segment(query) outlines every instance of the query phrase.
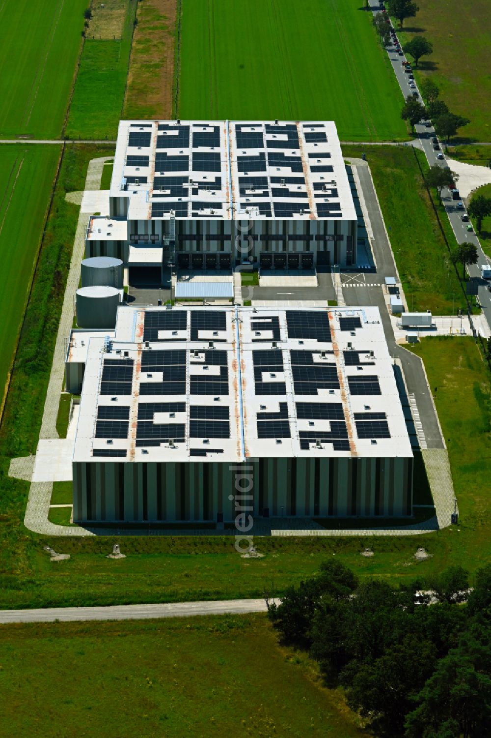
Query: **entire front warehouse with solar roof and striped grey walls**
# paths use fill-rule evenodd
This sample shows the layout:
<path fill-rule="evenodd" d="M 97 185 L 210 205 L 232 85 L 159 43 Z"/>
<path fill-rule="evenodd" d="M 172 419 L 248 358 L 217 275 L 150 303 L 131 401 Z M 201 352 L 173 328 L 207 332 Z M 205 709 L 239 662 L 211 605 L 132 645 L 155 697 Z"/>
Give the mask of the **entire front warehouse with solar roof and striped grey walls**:
<path fill-rule="evenodd" d="M 78 345 L 74 520 L 231 521 L 240 469 L 255 517 L 411 514 L 377 308 L 120 306 Z"/>

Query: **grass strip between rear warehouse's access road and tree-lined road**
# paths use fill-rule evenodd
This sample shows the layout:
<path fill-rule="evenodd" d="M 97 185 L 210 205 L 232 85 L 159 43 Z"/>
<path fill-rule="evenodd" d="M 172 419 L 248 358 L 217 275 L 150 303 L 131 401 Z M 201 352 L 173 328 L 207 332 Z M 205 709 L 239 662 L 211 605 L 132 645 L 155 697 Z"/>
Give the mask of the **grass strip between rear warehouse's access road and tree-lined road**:
<path fill-rule="evenodd" d="M 361 152 L 361 148 L 343 146 L 348 159 L 360 157 Z M 417 155 L 424 169 L 428 166 L 425 156 L 422 152 Z M 453 266 L 448 263 L 448 250 L 413 149 L 374 146 L 367 158 L 409 310 L 447 315 L 464 307 L 462 289 Z M 455 237 L 450 225 L 448 229 L 445 227 L 448 218 L 443 212 L 441 219 L 453 246 Z"/>

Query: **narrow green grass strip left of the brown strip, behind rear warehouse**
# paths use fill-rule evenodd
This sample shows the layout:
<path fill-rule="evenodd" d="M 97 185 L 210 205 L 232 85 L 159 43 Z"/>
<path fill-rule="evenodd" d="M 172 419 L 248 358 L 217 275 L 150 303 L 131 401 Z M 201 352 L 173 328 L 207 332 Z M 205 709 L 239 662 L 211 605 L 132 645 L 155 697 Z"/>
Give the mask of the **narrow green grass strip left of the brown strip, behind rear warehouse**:
<path fill-rule="evenodd" d="M 120 41 L 87 38 L 80 58 L 66 136 L 115 139 L 125 97 L 136 2 L 128 2 Z"/>

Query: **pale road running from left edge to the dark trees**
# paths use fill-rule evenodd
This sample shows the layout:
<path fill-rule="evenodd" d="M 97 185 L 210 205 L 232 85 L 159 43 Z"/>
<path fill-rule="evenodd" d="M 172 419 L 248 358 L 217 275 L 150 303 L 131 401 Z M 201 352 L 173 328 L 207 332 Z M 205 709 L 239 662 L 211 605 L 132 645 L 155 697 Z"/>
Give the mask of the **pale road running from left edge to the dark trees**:
<path fill-rule="evenodd" d="M 33 610 L 0 610 L 0 623 L 50 623 L 85 620 L 148 620 L 185 618 L 191 615 L 265 613 L 264 599 L 122 604 L 108 607 L 46 607 Z"/>

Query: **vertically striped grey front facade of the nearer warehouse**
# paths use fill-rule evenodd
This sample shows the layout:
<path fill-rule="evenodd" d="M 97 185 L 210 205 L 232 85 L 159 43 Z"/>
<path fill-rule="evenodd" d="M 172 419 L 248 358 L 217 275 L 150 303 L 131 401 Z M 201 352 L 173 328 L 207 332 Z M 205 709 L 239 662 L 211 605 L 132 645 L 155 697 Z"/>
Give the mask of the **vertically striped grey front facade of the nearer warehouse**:
<path fill-rule="evenodd" d="M 84 522 L 216 521 L 220 514 L 231 522 L 242 509 L 271 517 L 411 514 L 412 458 L 263 458 L 243 465 L 94 461 L 73 466 L 74 520 Z"/>

